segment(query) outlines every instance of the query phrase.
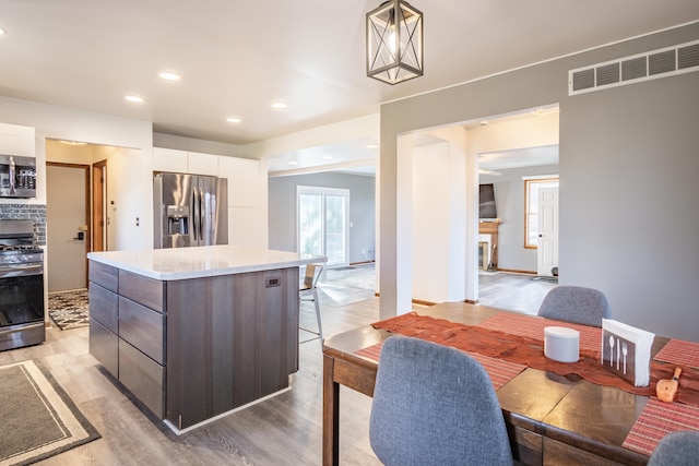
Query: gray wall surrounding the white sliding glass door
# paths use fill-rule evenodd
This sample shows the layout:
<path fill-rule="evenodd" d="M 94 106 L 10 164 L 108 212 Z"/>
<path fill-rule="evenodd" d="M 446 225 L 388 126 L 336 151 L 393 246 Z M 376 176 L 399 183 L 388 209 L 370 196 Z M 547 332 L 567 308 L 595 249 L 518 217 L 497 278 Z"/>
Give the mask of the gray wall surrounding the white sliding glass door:
<path fill-rule="evenodd" d="M 270 249 L 296 252 L 296 187 L 350 190 L 350 263 L 375 259 L 376 179 L 323 172 L 274 177 L 269 180 Z"/>

